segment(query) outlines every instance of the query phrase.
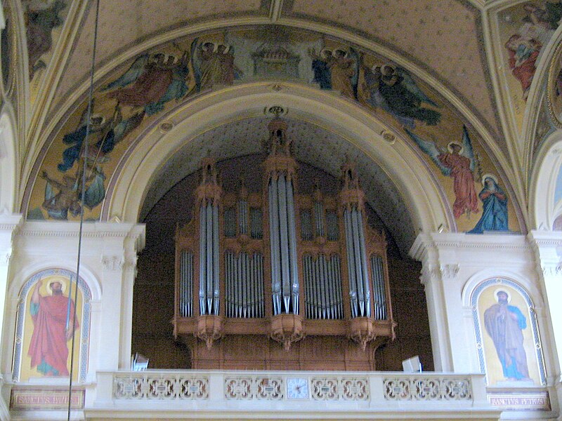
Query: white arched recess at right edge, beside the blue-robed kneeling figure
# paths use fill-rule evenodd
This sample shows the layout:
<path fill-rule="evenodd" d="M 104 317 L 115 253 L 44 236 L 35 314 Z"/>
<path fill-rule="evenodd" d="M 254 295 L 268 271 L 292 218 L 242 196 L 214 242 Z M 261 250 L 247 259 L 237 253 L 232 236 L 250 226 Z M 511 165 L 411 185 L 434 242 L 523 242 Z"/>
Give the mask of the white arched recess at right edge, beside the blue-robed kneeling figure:
<path fill-rule="evenodd" d="M 556 217 L 562 215 L 562 200 L 556 203 L 556 186 L 561 170 L 562 130 L 558 130 L 545 140 L 532 171 L 529 210 L 534 229 L 551 231 Z"/>

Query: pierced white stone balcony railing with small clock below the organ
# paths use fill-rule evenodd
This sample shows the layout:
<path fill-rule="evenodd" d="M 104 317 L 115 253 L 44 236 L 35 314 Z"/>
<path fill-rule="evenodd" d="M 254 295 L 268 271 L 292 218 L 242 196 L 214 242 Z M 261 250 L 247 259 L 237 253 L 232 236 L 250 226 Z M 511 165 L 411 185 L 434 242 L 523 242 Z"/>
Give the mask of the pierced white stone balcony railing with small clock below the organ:
<path fill-rule="evenodd" d="M 299 393 L 295 393 L 296 389 Z M 94 419 L 115 413 L 142 419 L 146 411 L 152 417 L 162 418 L 185 411 L 211 418 L 225 411 L 233 417 L 265 417 L 270 411 L 282 416 L 290 412 L 294 418 L 329 418 L 334 417 L 334 411 L 343 411 L 346 416 L 380 418 L 405 411 L 409 418 L 416 418 L 429 408 L 443 419 L 454 415 L 455 419 L 497 420 L 499 416 L 499 411 L 488 403 L 481 374 L 98 372 L 93 396 L 91 400 L 86 396 L 84 414 Z"/>

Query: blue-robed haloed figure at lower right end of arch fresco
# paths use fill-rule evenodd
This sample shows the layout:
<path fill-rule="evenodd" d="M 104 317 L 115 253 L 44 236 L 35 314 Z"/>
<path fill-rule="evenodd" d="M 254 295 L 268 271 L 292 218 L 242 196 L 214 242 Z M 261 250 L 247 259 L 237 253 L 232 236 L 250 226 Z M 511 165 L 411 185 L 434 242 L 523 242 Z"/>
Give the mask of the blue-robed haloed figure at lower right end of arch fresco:
<path fill-rule="evenodd" d="M 482 216 L 469 234 L 485 231 L 509 231 L 507 226 L 507 195 L 497 185 L 496 178 L 486 174 L 482 178 L 483 189 L 478 194 L 483 204 Z"/>

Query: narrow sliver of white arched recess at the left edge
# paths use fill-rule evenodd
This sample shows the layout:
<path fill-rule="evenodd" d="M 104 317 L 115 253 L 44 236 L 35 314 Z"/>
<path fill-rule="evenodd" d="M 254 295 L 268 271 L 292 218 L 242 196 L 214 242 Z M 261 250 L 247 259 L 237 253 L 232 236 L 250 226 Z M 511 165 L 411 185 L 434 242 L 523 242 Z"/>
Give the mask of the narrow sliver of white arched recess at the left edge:
<path fill-rule="evenodd" d="M 12 213 L 17 203 L 18 147 L 13 109 L 4 103 L 0 112 L 0 212 Z"/>

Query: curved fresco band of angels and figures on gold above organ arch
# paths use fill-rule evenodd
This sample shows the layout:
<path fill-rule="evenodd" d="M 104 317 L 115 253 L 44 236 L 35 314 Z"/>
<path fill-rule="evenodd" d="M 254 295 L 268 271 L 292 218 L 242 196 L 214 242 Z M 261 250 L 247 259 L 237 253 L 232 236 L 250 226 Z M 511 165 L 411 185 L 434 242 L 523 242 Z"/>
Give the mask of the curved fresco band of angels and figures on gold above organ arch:
<path fill-rule="evenodd" d="M 27 196 L 27 218 L 77 220 L 84 208 L 87 220 L 98 220 L 107 180 L 143 128 L 198 95 L 272 77 L 341 95 L 393 127 L 435 173 L 459 231 L 520 230 L 510 188 L 483 140 L 433 88 L 356 45 L 273 25 L 179 37 L 139 53 L 103 77 L 94 94 L 87 158 L 82 102 L 44 148 Z M 262 127 L 255 138 L 263 137 Z M 341 155 L 342 149 L 334 154 Z M 82 202 L 77 192 L 84 168 Z M 385 184 L 383 178 L 379 184 Z M 500 209 L 493 218 L 490 206 Z M 384 218 L 385 212 L 381 214 Z"/>

